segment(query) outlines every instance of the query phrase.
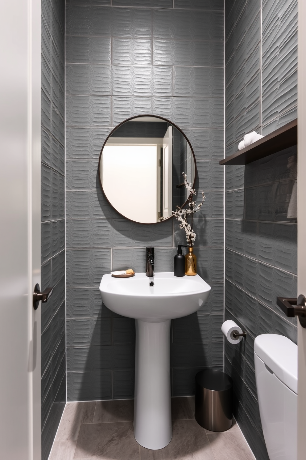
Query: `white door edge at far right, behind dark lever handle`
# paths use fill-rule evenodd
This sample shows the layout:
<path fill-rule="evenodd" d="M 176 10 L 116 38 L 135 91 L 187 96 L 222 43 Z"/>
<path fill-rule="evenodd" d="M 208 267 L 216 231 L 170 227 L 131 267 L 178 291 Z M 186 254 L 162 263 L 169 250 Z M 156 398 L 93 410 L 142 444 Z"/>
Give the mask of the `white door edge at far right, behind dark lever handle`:
<path fill-rule="evenodd" d="M 306 297 L 306 2 L 298 29 L 298 295 Z M 298 321 L 298 460 L 306 458 L 306 329 Z"/>

